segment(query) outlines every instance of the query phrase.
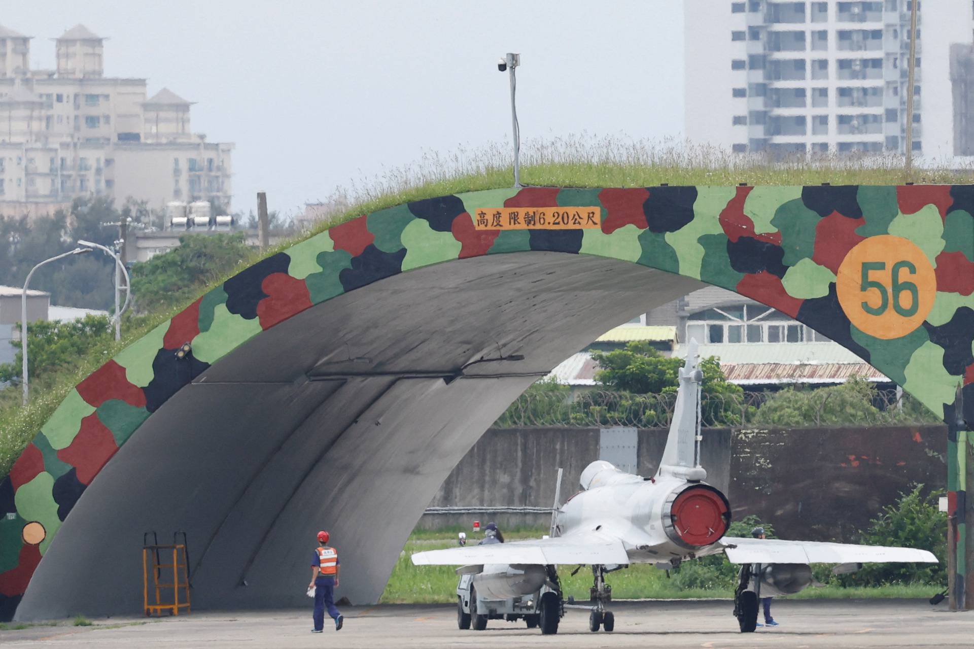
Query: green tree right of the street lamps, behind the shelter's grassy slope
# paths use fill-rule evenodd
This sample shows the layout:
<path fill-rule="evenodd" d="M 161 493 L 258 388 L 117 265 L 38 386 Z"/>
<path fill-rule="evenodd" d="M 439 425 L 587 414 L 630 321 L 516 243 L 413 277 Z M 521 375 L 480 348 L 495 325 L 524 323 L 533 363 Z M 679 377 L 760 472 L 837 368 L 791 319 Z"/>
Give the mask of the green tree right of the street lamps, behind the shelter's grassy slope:
<path fill-rule="evenodd" d="M 131 292 L 140 313 L 188 302 L 203 286 L 249 256 L 244 233 L 186 235 L 179 248 L 131 267 Z"/>

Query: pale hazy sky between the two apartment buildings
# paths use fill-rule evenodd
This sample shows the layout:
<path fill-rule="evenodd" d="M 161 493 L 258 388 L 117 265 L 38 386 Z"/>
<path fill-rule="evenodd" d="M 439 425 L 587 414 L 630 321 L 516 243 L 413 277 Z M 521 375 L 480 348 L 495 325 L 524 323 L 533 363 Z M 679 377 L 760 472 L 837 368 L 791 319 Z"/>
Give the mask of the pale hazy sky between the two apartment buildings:
<path fill-rule="evenodd" d="M 0 0 L 33 36 L 32 67 L 82 22 L 105 73 L 196 101 L 193 130 L 236 142 L 234 209 L 266 190 L 293 212 L 336 185 L 510 137 L 507 77 L 519 52 L 522 138 L 683 131 L 678 0 L 386 2 Z"/>

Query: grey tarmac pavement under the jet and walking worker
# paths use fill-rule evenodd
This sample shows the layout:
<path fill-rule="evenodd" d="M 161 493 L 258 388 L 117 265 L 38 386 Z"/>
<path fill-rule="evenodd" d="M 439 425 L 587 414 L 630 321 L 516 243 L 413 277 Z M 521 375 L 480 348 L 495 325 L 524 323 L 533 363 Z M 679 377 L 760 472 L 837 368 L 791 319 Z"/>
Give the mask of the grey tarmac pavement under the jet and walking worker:
<path fill-rule="evenodd" d="M 487 630 L 458 630 L 448 605 L 356 606 L 345 628 L 311 633 L 307 611 L 202 612 L 146 622 L 94 621 L 93 627 L 0 631 L 4 647 L 966 647 L 974 612 L 951 613 L 924 600 L 776 600 L 773 629 L 740 633 L 728 600 L 614 602 L 616 630 L 588 630 L 588 614 L 569 610 L 557 635 L 523 622 L 491 620 Z M 127 625 L 127 626 L 121 626 Z"/>

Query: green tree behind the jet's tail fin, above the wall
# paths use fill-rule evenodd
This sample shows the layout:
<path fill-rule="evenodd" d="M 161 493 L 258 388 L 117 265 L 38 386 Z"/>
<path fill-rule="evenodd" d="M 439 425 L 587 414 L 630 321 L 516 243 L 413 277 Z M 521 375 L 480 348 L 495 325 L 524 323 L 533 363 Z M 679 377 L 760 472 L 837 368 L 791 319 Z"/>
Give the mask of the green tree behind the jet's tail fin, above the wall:
<path fill-rule="evenodd" d="M 601 369 L 595 378 L 611 390 L 632 395 L 658 395 L 676 392 L 680 367 L 684 359 L 664 357 L 645 342 L 631 342 L 624 349 L 593 352 L 592 359 Z M 735 426 L 741 423 L 744 390 L 728 382 L 720 362 L 714 357 L 702 359 L 701 410 L 708 425 Z"/>

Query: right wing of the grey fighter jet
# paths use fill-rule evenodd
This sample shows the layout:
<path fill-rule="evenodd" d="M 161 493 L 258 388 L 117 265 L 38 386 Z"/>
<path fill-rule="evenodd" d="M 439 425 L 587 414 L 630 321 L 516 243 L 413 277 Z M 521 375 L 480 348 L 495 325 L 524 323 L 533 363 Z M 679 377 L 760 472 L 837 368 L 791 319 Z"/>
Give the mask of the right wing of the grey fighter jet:
<path fill-rule="evenodd" d="M 845 543 L 724 537 L 731 563 L 936 563 L 933 553 L 915 548 L 855 546 Z"/>

